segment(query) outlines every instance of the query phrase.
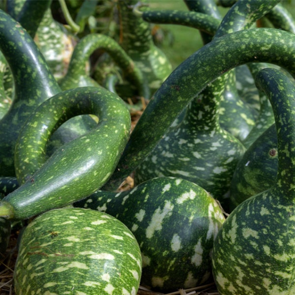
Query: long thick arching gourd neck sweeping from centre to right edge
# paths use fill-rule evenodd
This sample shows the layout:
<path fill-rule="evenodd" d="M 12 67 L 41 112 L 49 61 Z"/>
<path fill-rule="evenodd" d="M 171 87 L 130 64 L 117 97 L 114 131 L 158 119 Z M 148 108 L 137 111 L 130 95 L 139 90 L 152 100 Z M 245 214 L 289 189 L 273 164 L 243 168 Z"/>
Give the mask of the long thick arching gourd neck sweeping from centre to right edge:
<path fill-rule="evenodd" d="M 181 110 L 208 83 L 225 71 L 248 62 L 274 63 L 294 75 L 294 52 L 294 34 L 270 28 L 233 32 L 203 46 L 184 60 L 153 95 L 104 189 L 117 189 L 123 179 L 155 148 Z M 231 59 L 228 59 L 229 55 Z M 215 66 L 212 67 L 212 64 Z"/>

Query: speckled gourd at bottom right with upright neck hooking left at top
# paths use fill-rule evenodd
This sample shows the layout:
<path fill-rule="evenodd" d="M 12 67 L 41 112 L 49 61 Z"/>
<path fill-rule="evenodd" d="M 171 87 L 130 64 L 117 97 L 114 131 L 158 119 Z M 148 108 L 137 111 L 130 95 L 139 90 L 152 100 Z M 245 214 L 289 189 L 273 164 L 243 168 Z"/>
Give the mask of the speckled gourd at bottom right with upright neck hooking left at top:
<path fill-rule="evenodd" d="M 294 82 L 275 69 L 256 76 L 271 102 L 278 138 L 274 184 L 229 215 L 213 247 L 213 276 L 221 295 L 295 292 Z"/>

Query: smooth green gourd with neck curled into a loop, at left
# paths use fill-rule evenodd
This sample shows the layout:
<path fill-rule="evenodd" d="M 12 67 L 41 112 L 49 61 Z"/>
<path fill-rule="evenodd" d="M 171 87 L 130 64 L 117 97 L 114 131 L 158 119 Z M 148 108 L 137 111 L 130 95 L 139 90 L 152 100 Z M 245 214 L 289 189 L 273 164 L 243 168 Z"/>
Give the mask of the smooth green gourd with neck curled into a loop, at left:
<path fill-rule="evenodd" d="M 97 126 L 44 163 L 47 139 L 54 129 L 68 118 L 89 113 L 99 118 Z M 70 89 L 46 100 L 19 135 L 15 166 L 17 180 L 24 184 L 3 198 L 0 215 L 26 219 L 89 196 L 114 171 L 129 130 L 128 110 L 106 89 Z"/>

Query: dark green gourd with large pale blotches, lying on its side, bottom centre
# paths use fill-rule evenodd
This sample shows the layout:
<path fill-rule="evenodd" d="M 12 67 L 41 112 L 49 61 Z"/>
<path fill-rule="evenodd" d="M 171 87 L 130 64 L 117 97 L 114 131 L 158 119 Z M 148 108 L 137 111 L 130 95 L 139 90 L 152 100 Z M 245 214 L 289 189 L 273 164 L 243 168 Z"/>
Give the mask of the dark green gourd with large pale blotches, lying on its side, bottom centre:
<path fill-rule="evenodd" d="M 129 191 L 97 191 L 74 206 L 105 211 L 132 231 L 143 257 L 141 285 L 167 293 L 210 277 L 213 240 L 225 218 L 200 186 L 159 177 Z"/>

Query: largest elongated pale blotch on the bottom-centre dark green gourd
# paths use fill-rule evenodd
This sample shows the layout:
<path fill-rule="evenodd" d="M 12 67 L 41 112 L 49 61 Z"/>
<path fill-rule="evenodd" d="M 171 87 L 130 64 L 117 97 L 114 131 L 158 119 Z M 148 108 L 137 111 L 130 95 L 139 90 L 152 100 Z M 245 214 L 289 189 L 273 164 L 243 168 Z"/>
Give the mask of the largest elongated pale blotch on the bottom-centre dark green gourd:
<path fill-rule="evenodd" d="M 146 230 L 147 238 L 151 238 L 155 231 L 160 231 L 162 229 L 162 222 L 165 217 L 169 217 L 172 214 L 174 205 L 169 201 L 165 201 L 163 210 L 158 207 L 151 216 L 151 220 Z"/>

